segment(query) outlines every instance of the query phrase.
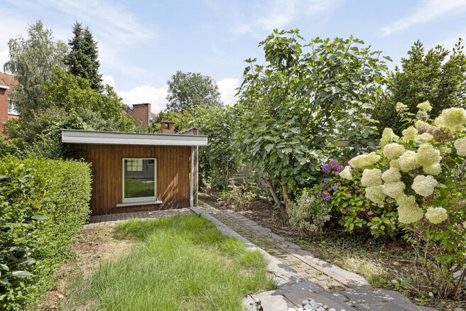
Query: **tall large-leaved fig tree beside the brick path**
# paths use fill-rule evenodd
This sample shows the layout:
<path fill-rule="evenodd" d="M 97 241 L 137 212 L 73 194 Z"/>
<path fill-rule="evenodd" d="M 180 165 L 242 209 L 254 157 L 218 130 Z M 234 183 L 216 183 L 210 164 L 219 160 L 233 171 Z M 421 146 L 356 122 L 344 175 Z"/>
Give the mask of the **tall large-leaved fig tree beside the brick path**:
<path fill-rule="evenodd" d="M 246 60 L 234 141 L 285 214 L 339 139 L 357 150 L 374 136 L 367 103 L 379 101 L 389 58 L 353 36 L 305 42 L 298 30 L 274 30 L 259 45 L 265 62 Z"/>

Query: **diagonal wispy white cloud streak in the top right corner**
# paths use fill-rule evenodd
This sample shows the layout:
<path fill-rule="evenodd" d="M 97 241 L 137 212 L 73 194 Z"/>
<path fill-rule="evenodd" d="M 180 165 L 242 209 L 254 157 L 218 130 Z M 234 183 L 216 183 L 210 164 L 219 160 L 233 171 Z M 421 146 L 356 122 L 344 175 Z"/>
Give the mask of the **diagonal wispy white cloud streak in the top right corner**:
<path fill-rule="evenodd" d="M 384 36 L 389 36 L 417 23 L 426 23 L 446 13 L 453 13 L 465 6 L 466 0 L 426 0 L 421 2 L 421 6 L 418 6 L 414 13 L 382 28 L 381 31 Z"/>

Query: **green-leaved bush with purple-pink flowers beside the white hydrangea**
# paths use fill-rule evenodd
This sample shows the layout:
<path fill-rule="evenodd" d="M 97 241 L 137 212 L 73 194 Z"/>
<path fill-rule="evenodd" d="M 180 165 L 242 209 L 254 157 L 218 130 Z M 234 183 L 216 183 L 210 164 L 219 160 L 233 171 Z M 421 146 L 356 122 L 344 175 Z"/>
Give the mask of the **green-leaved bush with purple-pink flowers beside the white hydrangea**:
<path fill-rule="evenodd" d="M 313 189 L 313 195 L 322 197 L 330 206 L 332 216 L 338 219 L 345 231 L 362 231 L 380 236 L 394 236 L 399 232 L 397 227 L 396 207 L 392 202 L 376 204 L 364 196 L 361 186 L 361 175 L 354 174 L 352 180 L 344 180 L 338 174 L 344 169 L 337 160 L 330 160 L 323 165 L 319 183 Z"/>

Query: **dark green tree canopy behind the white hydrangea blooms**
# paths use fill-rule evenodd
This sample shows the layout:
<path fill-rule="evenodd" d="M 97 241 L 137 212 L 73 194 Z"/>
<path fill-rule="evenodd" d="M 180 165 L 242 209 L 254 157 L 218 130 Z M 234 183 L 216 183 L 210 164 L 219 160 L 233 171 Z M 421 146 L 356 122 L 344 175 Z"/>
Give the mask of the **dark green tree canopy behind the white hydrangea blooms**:
<path fill-rule="evenodd" d="M 389 74 L 386 99 L 376 105 L 374 119 L 379 120 L 381 129 L 389 127 L 401 133 L 403 122 L 396 114 L 396 103 L 403 102 L 415 113 L 416 105 L 426 100 L 433 117 L 443 109 L 466 107 L 466 56 L 461 39 L 452 51 L 437 45 L 427 53 L 416 41 L 408 58 L 401 58 L 401 69 L 397 66 Z"/>

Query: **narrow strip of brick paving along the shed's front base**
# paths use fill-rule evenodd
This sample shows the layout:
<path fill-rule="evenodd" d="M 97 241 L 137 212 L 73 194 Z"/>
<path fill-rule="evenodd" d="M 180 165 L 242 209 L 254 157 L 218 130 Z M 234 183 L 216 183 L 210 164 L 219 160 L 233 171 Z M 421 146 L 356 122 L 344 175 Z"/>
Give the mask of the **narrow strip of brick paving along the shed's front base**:
<path fill-rule="evenodd" d="M 175 215 L 189 215 L 193 212 L 188 209 L 164 209 L 160 211 L 149 211 L 149 212 L 130 212 L 130 213 L 119 213 L 119 214 L 107 214 L 107 215 L 97 215 L 91 216 L 89 222 L 84 225 L 84 227 L 92 226 L 107 226 L 116 224 L 121 220 L 127 220 L 132 218 L 137 219 L 146 219 L 154 217 L 170 217 Z"/>

